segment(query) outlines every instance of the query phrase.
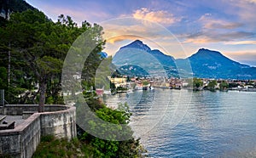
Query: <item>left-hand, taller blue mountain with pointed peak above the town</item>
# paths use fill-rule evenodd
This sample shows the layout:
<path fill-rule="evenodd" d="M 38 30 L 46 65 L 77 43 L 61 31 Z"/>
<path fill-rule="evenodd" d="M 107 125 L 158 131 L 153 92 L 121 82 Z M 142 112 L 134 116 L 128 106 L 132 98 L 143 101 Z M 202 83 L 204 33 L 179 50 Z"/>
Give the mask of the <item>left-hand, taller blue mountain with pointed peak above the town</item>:
<path fill-rule="evenodd" d="M 147 72 L 139 74 L 177 76 L 177 68 L 172 56 L 163 54 L 158 49 L 151 50 L 140 40 L 120 48 L 113 56 L 113 64 L 117 67 L 129 65 L 132 68 L 136 67 L 137 70 L 143 69 L 143 71 Z M 132 71 L 134 70 L 128 69 L 126 72 L 127 74 L 132 74 Z"/>

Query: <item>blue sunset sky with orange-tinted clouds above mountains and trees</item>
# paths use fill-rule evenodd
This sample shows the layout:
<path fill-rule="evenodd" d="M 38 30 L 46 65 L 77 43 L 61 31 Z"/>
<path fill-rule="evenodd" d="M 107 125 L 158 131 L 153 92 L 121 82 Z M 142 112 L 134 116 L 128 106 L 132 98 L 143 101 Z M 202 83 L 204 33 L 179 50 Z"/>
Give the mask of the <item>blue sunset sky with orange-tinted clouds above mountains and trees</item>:
<path fill-rule="evenodd" d="M 256 66 L 256 0 L 26 0 L 56 21 L 69 15 L 103 26 L 114 55 L 136 39 L 174 58 L 199 48 Z"/>

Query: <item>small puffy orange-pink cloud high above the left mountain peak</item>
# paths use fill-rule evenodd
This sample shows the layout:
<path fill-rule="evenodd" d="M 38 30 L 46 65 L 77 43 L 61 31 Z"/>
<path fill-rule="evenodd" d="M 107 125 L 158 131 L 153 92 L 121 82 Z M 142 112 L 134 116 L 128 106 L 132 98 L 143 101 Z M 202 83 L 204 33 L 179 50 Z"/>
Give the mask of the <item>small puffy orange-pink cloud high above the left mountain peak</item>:
<path fill-rule="evenodd" d="M 132 16 L 136 19 L 150 20 L 163 25 L 172 25 L 179 21 L 173 14 L 165 10 L 151 11 L 148 8 L 137 9 Z"/>

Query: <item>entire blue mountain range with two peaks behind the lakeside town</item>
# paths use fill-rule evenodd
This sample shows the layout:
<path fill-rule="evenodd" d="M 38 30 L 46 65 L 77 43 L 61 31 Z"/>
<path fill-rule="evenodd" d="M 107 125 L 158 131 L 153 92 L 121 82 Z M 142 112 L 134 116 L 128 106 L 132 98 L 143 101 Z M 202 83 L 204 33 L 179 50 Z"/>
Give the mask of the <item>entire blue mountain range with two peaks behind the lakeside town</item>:
<path fill-rule="evenodd" d="M 174 59 L 158 49 L 152 50 L 140 40 L 122 47 L 113 56 L 113 64 L 130 76 L 193 75 L 201 78 L 256 79 L 256 67 L 243 65 L 223 54 L 201 48 L 186 59 Z"/>

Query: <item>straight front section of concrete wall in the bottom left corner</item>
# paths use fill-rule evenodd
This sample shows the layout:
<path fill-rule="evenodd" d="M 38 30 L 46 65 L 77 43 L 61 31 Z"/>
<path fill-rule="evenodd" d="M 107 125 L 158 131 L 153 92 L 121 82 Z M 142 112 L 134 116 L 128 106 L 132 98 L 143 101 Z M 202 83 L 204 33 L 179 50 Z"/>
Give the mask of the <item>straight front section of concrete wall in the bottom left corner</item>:
<path fill-rule="evenodd" d="M 0 131 L 0 157 L 31 157 L 41 138 L 40 114 L 30 116 L 15 129 Z"/>

